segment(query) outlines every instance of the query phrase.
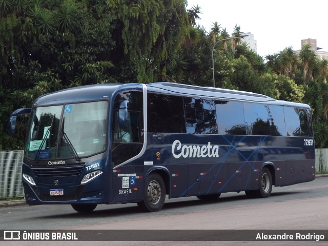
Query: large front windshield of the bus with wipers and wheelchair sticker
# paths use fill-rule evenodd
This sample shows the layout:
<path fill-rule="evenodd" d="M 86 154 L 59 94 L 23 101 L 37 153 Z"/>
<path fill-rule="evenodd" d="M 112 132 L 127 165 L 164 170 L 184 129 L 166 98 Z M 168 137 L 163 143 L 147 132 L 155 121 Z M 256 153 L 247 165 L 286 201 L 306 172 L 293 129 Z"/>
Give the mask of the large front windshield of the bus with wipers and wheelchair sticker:
<path fill-rule="evenodd" d="M 34 159 L 74 158 L 104 151 L 107 101 L 36 107 L 32 110 L 25 156 Z"/>

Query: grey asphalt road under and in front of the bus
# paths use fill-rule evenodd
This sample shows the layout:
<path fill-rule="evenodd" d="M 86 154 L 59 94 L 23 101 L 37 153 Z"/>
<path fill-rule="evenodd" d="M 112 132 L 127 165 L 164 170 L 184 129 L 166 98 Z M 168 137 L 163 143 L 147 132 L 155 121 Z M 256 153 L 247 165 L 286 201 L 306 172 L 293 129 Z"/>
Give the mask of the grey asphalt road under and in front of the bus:
<path fill-rule="evenodd" d="M 136 204 L 99 205 L 91 214 L 71 206 L 18 206 L 0 208 L 0 230 L 326 230 L 328 177 L 288 187 L 273 188 L 271 197 L 248 199 L 244 192 L 226 193 L 215 201 L 196 197 L 168 199 L 156 213 L 143 213 Z M 150 231 L 151 232 L 151 231 Z M 145 241 L 147 238 L 145 238 Z M 40 243 L 40 244 L 38 244 Z M 96 242 L 98 245 L 327 245 L 325 242 Z M 47 242 L 47 245 L 61 245 Z M 89 245 L 90 242 L 65 242 Z M 7 243 L 6 243 L 7 245 Z M 8 245 L 32 245 L 8 242 Z M 44 245 L 35 242 L 33 245 Z"/>

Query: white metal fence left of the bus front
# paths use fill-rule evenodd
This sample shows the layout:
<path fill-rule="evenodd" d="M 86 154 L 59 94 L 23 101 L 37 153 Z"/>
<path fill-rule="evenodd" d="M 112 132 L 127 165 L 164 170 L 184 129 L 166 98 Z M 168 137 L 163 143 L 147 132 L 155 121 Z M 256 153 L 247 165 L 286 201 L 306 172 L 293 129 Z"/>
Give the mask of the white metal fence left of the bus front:
<path fill-rule="evenodd" d="M 0 151 L 0 198 L 23 197 L 23 150 Z"/>

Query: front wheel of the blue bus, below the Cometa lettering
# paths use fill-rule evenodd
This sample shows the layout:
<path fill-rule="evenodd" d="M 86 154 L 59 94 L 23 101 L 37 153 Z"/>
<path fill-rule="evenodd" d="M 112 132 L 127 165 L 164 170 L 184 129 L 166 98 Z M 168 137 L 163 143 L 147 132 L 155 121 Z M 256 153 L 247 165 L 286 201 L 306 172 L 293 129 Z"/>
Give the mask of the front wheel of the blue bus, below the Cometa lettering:
<path fill-rule="evenodd" d="M 165 196 L 165 183 L 162 177 L 157 173 L 153 173 L 146 178 L 144 200 L 137 202 L 137 204 L 143 211 L 157 212 L 163 207 Z"/>

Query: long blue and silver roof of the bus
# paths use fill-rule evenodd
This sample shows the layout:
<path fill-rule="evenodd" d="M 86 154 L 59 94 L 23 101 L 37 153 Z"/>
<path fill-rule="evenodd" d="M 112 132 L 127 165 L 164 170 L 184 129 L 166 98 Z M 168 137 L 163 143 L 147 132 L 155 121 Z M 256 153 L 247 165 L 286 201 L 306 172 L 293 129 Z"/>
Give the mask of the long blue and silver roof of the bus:
<path fill-rule="evenodd" d="M 220 89 L 213 87 L 200 87 L 176 84 L 170 82 L 157 82 L 147 84 L 147 90 L 153 93 L 174 94 L 184 96 L 199 96 L 214 99 L 235 99 L 242 101 L 254 101 L 259 103 L 277 104 L 286 106 L 298 106 L 309 108 L 308 105 L 291 103 L 273 99 L 269 96 L 252 92 Z M 110 98 L 114 92 L 124 90 L 142 90 L 141 84 L 96 84 L 88 86 L 73 87 L 38 97 L 33 106 L 46 106 L 54 104 L 67 104 L 76 101 L 99 100 Z"/>

